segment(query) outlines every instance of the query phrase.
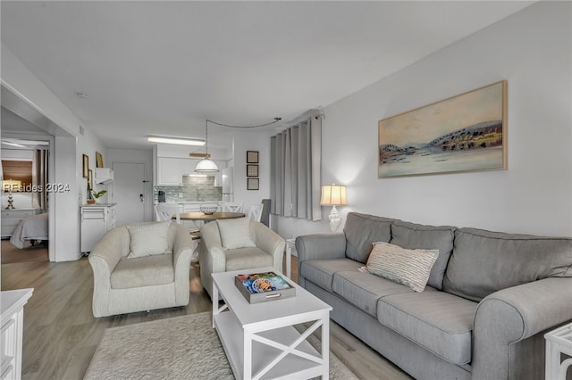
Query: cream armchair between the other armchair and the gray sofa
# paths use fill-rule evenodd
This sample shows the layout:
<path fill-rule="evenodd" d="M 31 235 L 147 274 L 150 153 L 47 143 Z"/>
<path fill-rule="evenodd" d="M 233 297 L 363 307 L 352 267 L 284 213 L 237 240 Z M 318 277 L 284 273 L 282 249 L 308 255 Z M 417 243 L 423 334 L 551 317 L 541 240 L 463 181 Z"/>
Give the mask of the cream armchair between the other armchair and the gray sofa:
<path fill-rule="evenodd" d="M 242 220 L 248 223 L 249 238 L 256 246 L 224 248 L 219 222 L 223 226 L 225 222 L 233 223 L 230 220 L 206 223 L 200 229 L 201 240 L 198 248 L 200 281 L 211 298 L 213 296 L 212 273 L 261 267 L 273 267 L 282 272 L 286 244 L 282 236 L 262 223 L 245 218 Z"/>

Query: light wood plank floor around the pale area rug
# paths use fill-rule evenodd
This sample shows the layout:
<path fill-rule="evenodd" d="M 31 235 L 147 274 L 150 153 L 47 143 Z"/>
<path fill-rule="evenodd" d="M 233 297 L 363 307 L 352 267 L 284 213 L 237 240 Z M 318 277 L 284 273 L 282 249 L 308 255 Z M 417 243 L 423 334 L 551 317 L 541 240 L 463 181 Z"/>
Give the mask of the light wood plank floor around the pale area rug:
<path fill-rule="evenodd" d="M 24 308 L 22 379 L 81 379 L 105 328 L 211 310 L 196 263 L 191 265 L 188 306 L 107 318 L 92 315 L 93 276 L 87 258 L 23 260 L 1 269 L 2 290 L 34 288 Z M 298 278 L 296 257 L 292 277 Z M 332 322 L 330 333 L 332 352 L 359 378 L 410 379 L 341 326 Z"/>

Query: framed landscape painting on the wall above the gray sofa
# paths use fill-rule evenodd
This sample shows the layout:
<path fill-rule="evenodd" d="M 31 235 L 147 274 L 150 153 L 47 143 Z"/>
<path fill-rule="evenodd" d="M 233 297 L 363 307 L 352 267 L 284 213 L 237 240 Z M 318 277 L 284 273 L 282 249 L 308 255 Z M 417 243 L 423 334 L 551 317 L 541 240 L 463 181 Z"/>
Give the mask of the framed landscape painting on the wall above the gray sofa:
<path fill-rule="evenodd" d="M 378 122 L 378 178 L 507 169 L 507 81 Z"/>

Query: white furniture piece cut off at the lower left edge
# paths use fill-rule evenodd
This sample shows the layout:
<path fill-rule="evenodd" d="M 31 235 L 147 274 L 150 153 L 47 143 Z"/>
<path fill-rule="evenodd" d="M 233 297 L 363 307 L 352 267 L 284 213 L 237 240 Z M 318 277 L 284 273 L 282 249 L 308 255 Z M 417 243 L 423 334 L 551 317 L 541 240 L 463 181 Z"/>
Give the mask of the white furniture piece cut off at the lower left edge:
<path fill-rule="evenodd" d="M 24 305 L 34 289 L 8 290 L 0 293 L 2 344 L 0 378 L 21 378 L 21 347 L 24 325 Z"/>

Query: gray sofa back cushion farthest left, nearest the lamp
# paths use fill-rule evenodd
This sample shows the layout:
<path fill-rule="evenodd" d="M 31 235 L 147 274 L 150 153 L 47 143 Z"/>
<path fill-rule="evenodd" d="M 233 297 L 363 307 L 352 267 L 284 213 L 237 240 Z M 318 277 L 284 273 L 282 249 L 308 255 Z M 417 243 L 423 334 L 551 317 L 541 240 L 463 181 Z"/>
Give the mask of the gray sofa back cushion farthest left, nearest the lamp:
<path fill-rule="evenodd" d="M 391 223 L 397 219 L 349 212 L 343 232 L 346 235 L 346 257 L 366 263 L 374 242 L 389 243 Z"/>

